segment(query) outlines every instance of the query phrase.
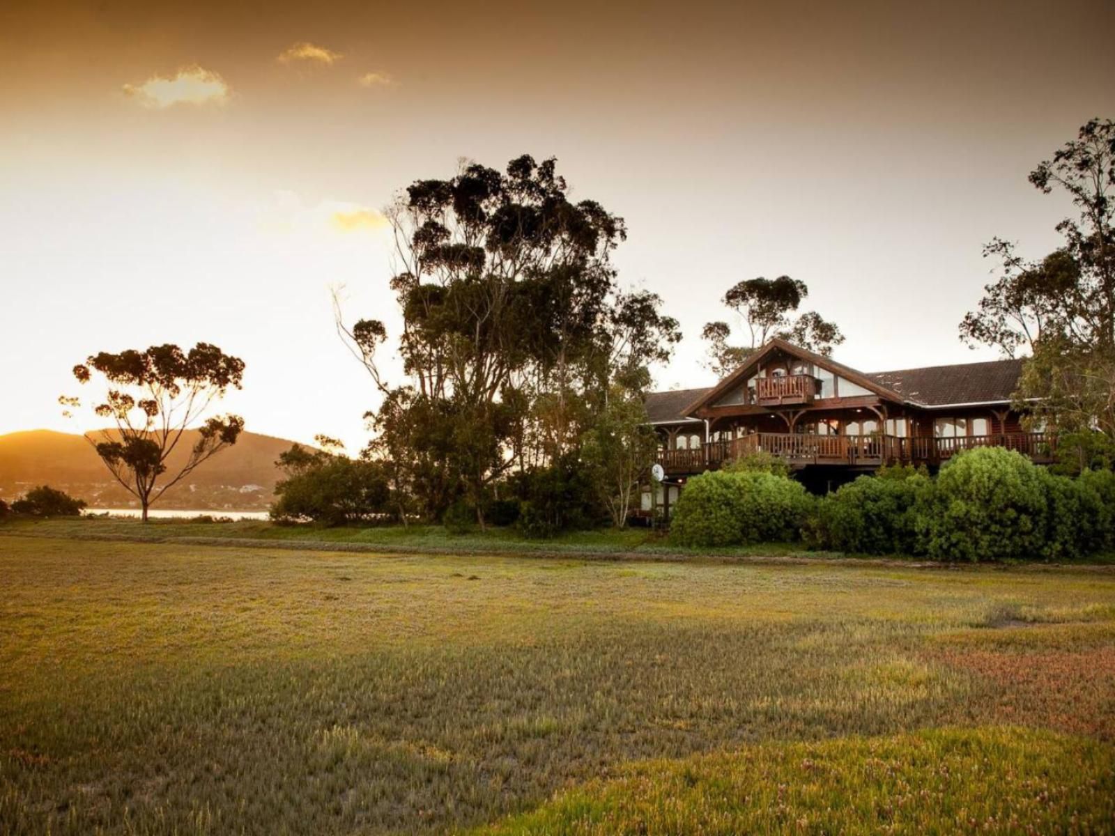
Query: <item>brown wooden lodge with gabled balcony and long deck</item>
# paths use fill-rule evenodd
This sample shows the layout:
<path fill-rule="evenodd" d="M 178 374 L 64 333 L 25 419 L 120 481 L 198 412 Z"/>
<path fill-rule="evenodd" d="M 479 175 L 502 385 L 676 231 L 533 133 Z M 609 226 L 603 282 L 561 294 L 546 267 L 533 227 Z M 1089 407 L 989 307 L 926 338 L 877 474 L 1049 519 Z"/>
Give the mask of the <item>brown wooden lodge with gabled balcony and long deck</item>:
<path fill-rule="evenodd" d="M 709 389 L 647 396 L 663 504 L 687 477 L 756 450 L 784 457 L 818 492 L 883 464 L 934 469 L 969 447 L 1049 461 L 1053 438 L 1025 431 L 1010 406 L 1020 372 L 1021 360 L 862 372 L 772 340 Z"/>

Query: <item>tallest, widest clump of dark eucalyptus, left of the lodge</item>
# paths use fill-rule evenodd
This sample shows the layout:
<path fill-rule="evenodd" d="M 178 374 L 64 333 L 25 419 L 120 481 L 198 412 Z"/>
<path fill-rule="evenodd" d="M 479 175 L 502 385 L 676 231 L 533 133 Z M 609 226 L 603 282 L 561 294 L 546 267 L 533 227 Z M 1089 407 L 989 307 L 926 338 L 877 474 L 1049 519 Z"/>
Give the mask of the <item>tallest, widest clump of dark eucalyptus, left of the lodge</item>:
<path fill-rule="evenodd" d="M 388 217 L 404 382 L 381 368 L 384 323 L 348 327 L 337 308 L 382 397 L 369 453 L 391 460 L 392 482 L 429 517 L 463 496 L 483 526 L 495 483 L 568 453 L 608 381 L 638 378 L 678 339 L 657 297 L 617 288 L 622 218 L 568 191 L 555 161 L 522 156 L 504 172 L 466 164 L 399 196 Z"/>

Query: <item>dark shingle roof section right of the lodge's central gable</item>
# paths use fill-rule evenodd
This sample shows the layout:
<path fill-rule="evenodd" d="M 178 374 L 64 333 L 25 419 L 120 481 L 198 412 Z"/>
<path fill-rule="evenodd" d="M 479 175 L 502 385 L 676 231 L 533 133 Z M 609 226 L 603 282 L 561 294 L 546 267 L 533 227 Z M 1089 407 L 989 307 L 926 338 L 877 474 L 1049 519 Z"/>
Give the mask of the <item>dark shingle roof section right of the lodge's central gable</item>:
<path fill-rule="evenodd" d="M 1018 388 L 1021 360 L 930 366 L 924 369 L 876 371 L 865 377 L 903 398 L 925 406 L 1006 402 Z"/>

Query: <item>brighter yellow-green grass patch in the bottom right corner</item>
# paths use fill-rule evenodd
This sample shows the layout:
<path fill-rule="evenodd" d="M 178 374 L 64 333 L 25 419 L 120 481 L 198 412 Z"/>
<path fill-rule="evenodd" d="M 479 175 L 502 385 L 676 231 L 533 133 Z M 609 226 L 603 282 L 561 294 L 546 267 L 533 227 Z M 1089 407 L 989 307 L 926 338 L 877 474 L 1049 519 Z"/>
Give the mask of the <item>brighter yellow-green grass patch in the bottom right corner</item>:
<path fill-rule="evenodd" d="M 649 761 L 477 834 L 1107 833 L 1113 822 L 1111 748 L 990 728 Z"/>

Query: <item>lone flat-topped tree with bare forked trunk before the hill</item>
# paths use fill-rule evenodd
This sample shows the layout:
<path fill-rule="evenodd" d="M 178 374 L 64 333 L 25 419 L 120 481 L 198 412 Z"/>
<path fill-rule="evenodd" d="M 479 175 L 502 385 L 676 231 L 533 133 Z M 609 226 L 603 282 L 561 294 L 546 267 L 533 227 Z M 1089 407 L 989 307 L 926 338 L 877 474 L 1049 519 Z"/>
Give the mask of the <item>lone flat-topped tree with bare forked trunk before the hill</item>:
<path fill-rule="evenodd" d="M 241 388 L 244 376 L 244 361 L 216 346 L 198 342 L 188 352 L 172 344 L 118 354 L 101 351 L 74 367 L 81 383 L 95 375 L 105 379 L 107 392 L 94 412 L 112 418 L 116 428 L 87 434 L 86 439 L 113 477 L 139 500 L 144 522 L 154 502 L 203 461 L 234 445 L 244 428 L 244 419 L 235 415 L 204 418 L 229 387 Z M 74 398 L 61 401 L 78 405 Z M 197 439 L 172 475 L 171 454 L 191 429 L 196 429 Z"/>

